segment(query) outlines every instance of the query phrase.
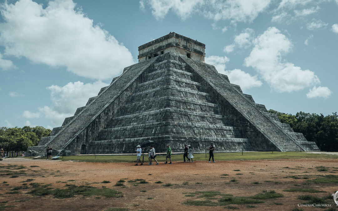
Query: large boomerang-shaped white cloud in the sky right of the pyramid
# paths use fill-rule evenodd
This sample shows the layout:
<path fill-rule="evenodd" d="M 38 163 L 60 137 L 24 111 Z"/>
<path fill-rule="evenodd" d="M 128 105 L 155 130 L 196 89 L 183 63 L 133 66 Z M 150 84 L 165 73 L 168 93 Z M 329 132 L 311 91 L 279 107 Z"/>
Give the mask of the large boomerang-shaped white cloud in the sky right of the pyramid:
<path fill-rule="evenodd" d="M 282 54 L 290 52 L 292 43 L 277 28 L 269 27 L 254 40 L 254 45 L 244 65 L 255 68 L 272 89 L 292 92 L 320 82 L 314 72 L 283 61 Z"/>

